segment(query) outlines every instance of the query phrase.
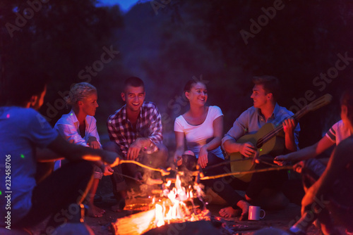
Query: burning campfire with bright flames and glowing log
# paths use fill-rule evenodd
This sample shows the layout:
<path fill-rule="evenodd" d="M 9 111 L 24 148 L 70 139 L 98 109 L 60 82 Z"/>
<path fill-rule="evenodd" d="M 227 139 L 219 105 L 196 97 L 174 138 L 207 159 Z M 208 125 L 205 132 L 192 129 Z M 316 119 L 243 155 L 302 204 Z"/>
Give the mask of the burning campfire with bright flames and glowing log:
<path fill-rule="evenodd" d="M 210 211 L 203 203 L 201 184 L 195 181 L 193 185 L 185 187 L 177 174 L 176 179 L 167 179 L 160 186 L 162 189 L 152 192 L 159 195 L 152 198 L 147 207 L 149 210 L 119 218 L 112 223 L 115 234 L 138 235 L 164 224 L 210 220 Z"/>

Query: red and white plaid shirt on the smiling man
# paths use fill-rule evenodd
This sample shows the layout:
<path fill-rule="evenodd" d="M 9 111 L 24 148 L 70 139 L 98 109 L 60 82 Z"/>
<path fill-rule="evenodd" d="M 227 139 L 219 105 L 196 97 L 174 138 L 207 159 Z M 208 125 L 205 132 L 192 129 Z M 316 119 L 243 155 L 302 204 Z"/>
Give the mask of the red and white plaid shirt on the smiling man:
<path fill-rule="evenodd" d="M 109 116 L 107 127 L 110 140 L 118 144 L 124 158 L 129 146 L 139 137 L 147 137 L 153 144 L 160 144 L 163 140 L 161 115 L 152 102 L 144 102 L 140 108 L 136 129 L 126 118 L 126 105 Z"/>

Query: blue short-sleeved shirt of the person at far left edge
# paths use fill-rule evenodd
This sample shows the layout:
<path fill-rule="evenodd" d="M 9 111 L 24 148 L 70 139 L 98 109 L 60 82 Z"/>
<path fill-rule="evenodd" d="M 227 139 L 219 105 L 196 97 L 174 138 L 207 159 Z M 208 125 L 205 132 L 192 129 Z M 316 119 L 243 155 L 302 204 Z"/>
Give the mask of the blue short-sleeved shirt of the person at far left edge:
<path fill-rule="evenodd" d="M 32 108 L 0 107 L 0 217 L 4 224 L 11 211 L 15 224 L 30 211 L 32 191 L 36 186 L 35 148 L 45 148 L 58 136 L 49 123 Z M 6 156 L 10 156 L 6 158 Z M 6 159 L 11 168 L 6 174 Z M 6 185 L 11 177 L 11 185 Z M 8 178 L 9 179 L 9 178 Z M 8 188 L 7 188 L 8 186 Z M 11 193 L 6 193 L 11 191 Z M 6 198 L 11 194 L 11 209 L 6 210 Z M 6 225 L 6 224 L 4 224 Z M 1 225 L 1 226 L 4 226 Z"/>

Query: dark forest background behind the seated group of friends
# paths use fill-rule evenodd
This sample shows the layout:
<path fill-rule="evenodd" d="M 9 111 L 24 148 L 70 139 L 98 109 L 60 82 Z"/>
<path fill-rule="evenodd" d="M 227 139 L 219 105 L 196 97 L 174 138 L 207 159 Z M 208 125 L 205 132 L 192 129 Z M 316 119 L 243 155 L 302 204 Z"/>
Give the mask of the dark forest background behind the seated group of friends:
<path fill-rule="evenodd" d="M 157 104 L 172 151 L 188 80 L 205 82 L 208 104 L 225 115 L 225 133 L 252 106 L 253 76 L 278 77 L 278 103 L 294 113 L 332 94 L 328 106 L 301 118 L 301 148 L 340 120 L 340 95 L 353 84 L 348 0 L 155 0 L 127 12 L 94 0 L 2 0 L 0 23 L 1 81 L 18 69 L 46 72 L 51 82 L 40 113 L 52 125 L 69 112 L 63 96 L 73 84 L 95 85 L 102 142 L 130 76 L 144 80 L 145 101 Z"/>

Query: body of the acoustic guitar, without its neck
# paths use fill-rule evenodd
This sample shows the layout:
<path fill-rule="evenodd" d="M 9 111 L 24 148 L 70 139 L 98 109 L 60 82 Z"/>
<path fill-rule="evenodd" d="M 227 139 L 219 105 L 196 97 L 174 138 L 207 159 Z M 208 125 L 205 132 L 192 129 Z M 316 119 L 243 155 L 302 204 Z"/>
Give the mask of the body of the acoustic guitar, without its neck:
<path fill-rule="evenodd" d="M 263 145 L 258 144 L 258 141 L 262 139 L 263 136 L 266 136 L 266 134 L 270 133 L 274 129 L 275 126 L 272 123 L 266 123 L 255 134 L 246 134 L 244 136 L 241 136 L 241 138 L 237 140 L 237 144 L 244 144 L 246 142 L 250 142 L 251 144 L 253 144 L 253 146 L 255 146 L 256 151 L 258 151 L 259 155 L 280 155 L 285 149 L 285 138 L 283 134 L 277 134 L 273 136 L 272 138 L 265 141 Z M 241 155 L 241 153 L 239 152 L 230 154 L 230 160 L 238 160 L 244 158 L 246 157 L 244 157 L 244 155 Z M 255 163 L 253 163 L 253 160 L 236 161 L 230 163 L 230 167 L 232 172 L 242 172 L 253 170 L 253 168 L 255 167 Z M 235 177 L 241 179 L 244 182 L 250 182 L 252 174 L 239 174 Z"/>

